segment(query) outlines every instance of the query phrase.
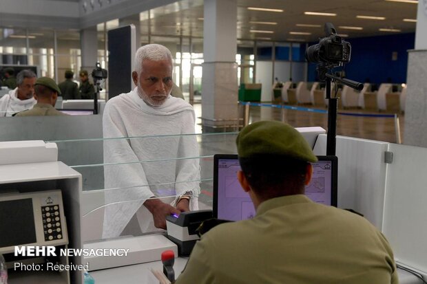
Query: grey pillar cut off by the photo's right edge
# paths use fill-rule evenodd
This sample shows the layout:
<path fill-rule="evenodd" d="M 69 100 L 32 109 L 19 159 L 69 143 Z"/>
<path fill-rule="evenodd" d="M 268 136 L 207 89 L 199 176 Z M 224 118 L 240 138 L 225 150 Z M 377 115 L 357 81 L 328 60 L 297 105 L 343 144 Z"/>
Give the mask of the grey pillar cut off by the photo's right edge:
<path fill-rule="evenodd" d="M 418 1 L 415 50 L 408 54 L 404 144 L 427 147 L 427 1 Z"/>

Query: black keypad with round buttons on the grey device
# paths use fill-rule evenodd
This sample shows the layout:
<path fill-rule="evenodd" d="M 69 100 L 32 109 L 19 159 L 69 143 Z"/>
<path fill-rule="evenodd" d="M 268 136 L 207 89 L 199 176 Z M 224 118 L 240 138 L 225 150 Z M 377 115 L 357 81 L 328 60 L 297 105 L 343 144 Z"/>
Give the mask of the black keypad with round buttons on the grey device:
<path fill-rule="evenodd" d="M 50 218 L 50 216 L 55 217 Z M 45 241 L 54 241 L 56 239 L 62 239 L 61 215 L 59 215 L 59 206 L 42 206 L 41 219 L 43 219 L 43 232 L 45 235 Z"/>

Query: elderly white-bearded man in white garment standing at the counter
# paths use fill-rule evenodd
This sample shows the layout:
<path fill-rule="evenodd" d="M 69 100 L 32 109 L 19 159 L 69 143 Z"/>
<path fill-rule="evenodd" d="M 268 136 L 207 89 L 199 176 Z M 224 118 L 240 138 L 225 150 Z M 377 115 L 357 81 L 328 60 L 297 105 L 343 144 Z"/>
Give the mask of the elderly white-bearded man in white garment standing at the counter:
<path fill-rule="evenodd" d="M 104 141 L 104 163 L 112 164 L 104 166 L 103 238 L 118 237 L 135 213 L 142 232 L 150 232 L 165 229 L 167 215 L 198 209 L 194 109 L 170 95 L 171 52 L 144 45 L 135 69 L 137 87 L 109 100 L 103 114 L 104 138 L 122 138 Z"/>

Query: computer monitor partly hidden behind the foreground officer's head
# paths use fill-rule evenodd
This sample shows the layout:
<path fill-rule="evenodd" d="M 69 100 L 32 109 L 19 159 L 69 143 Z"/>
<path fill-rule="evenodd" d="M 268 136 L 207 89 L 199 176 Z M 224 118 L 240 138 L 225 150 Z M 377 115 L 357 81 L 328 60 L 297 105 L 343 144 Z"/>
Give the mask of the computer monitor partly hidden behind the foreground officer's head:
<path fill-rule="evenodd" d="M 317 156 L 311 182 L 305 194 L 311 200 L 337 206 L 337 157 Z M 213 217 L 240 221 L 255 216 L 251 198 L 237 179 L 240 170 L 238 155 L 213 156 Z"/>

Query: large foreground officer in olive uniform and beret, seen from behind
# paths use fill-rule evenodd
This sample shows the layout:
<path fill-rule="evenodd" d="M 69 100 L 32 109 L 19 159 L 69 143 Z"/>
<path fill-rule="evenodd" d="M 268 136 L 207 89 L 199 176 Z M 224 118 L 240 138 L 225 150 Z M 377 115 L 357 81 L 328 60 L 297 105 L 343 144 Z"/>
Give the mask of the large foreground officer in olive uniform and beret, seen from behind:
<path fill-rule="evenodd" d="M 297 130 L 255 122 L 236 144 L 238 180 L 256 216 L 203 234 L 176 284 L 398 283 L 393 252 L 377 228 L 304 195 L 317 157 Z"/>

